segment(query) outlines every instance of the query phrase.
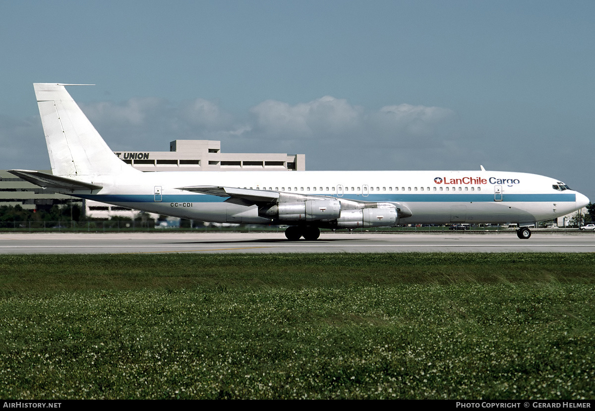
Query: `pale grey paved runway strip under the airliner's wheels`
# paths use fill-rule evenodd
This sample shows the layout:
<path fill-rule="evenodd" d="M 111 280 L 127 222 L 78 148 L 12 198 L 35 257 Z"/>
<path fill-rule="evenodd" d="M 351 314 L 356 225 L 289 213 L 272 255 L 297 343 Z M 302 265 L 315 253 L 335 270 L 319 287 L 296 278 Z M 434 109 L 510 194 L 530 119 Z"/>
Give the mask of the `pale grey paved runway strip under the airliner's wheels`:
<path fill-rule="evenodd" d="M 595 233 L 377 234 L 322 232 L 317 241 L 278 233 L 6 233 L 0 254 L 595 252 Z"/>

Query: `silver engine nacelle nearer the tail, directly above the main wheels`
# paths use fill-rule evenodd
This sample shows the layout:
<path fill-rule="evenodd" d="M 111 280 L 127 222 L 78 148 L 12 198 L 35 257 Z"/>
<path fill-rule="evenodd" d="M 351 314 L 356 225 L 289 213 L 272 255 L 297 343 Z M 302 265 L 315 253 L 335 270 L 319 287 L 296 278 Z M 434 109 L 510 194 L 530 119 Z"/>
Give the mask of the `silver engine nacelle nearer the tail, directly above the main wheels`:
<path fill-rule="evenodd" d="M 263 217 L 277 218 L 281 221 L 317 221 L 339 218 L 341 203 L 339 200 L 306 200 L 295 203 L 278 203 L 260 213 Z"/>

